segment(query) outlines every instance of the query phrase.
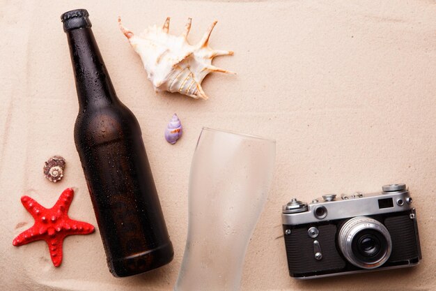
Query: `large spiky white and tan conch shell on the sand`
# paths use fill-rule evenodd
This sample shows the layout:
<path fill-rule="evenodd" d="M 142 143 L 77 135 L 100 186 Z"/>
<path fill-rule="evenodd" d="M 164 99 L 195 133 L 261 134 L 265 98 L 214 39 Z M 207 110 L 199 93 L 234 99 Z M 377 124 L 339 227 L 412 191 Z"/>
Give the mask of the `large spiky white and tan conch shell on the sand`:
<path fill-rule="evenodd" d="M 201 88 L 201 81 L 210 72 L 231 73 L 212 66 L 212 59 L 217 56 L 233 55 L 232 51 L 212 50 L 209 38 L 217 22 L 213 22 L 203 38 L 196 45 L 187 41 L 192 19 L 188 18 L 185 31 L 180 36 L 169 34 L 167 17 L 162 27 L 148 27 L 141 36 L 135 35 L 123 27 L 118 17 L 120 30 L 129 39 L 130 45 L 142 59 L 148 80 L 153 83 L 156 92 L 179 92 L 192 98 L 208 99 Z"/>

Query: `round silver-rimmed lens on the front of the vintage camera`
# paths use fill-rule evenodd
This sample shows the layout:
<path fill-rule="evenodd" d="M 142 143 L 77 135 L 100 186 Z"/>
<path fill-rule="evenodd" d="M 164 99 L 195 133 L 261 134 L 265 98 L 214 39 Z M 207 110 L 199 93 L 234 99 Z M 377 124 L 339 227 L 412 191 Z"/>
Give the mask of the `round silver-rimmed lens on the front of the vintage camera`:
<path fill-rule="evenodd" d="M 338 234 L 338 244 L 345 258 L 356 267 L 380 267 L 391 255 L 391 236 L 379 221 L 365 216 L 345 222 Z"/>

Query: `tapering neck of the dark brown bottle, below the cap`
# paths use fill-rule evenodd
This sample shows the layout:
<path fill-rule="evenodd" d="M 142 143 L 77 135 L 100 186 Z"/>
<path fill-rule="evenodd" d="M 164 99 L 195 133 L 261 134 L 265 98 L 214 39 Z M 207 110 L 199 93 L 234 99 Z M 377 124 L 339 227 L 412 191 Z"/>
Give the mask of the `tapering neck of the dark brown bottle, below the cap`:
<path fill-rule="evenodd" d="M 90 27 L 66 31 L 74 70 L 79 107 L 104 107 L 118 103 Z"/>

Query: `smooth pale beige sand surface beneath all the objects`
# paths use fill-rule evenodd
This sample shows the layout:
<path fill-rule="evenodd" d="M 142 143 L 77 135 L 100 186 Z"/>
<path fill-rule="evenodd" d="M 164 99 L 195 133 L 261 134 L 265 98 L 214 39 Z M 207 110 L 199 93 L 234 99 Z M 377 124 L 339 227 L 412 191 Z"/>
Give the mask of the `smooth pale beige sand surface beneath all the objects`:
<path fill-rule="evenodd" d="M 98 232 L 65 239 L 54 268 L 45 242 L 16 248 L 33 224 L 20 203 L 51 207 L 67 187 L 70 216 L 97 225 L 73 141 L 78 104 L 61 13 L 86 8 L 116 92 L 139 119 L 175 248 L 171 264 L 118 279 Z M 117 27 L 140 32 L 171 16 L 172 33 L 193 18 L 191 43 L 219 20 L 211 47 L 234 50 L 214 64 L 238 75 L 203 82 L 210 100 L 155 94 Z M 269 200 L 249 244 L 241 290 L 436 290 L 435 1 L 1 1 L 1 290 L 172 290 L 187 235 L 189 166 L 202 126 L 277 140 Z M 164 128 L 177 112 L 185 133 Z M 43 177 L 49 156 L 65 178 Z M 423 261 L 418 267 L 300 282 L 288 276 L 281 205 L 297 196 L 410 187 Z"/>

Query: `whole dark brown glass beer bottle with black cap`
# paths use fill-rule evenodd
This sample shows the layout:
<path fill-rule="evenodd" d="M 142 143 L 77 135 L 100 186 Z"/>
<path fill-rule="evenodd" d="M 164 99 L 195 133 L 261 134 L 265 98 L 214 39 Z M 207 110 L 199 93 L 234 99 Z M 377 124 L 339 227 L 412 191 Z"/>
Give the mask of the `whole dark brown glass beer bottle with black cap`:
<path fill-rule="evenodd" d="M 150 271 L 171 262 L 173 246 L 141 128 L 116 96 L 88 12 L 72 10 L 61 20 L 79 97 L 75 144 L 109 269 L 117 277 Z"/>

